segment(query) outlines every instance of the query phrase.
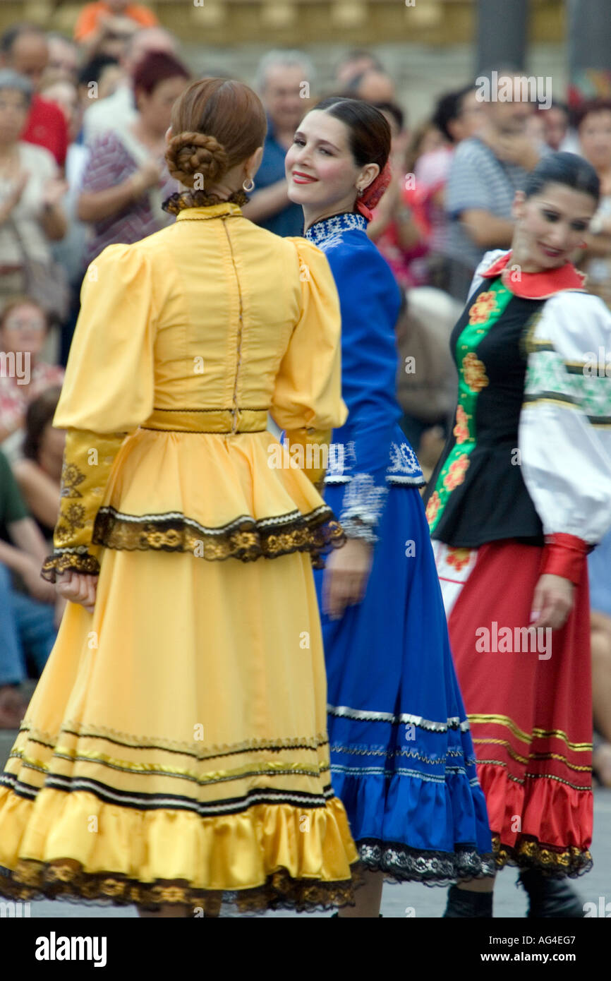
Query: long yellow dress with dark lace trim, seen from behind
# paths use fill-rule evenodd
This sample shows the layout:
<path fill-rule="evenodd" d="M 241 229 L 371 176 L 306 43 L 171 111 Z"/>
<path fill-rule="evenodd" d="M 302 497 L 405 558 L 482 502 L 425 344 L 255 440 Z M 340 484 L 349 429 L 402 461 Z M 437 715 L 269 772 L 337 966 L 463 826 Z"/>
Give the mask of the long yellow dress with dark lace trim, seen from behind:
<path fill-rule="evenodd" d="M 99 570 L 97 597 L 68 604 L 2 777 L 0 894 L 351 902 L 312 576 L 343 538 L 313 484 L 346 417 L 327 260 L 189 208 L 105 249 L 81 300 L 44 575 Z"/>

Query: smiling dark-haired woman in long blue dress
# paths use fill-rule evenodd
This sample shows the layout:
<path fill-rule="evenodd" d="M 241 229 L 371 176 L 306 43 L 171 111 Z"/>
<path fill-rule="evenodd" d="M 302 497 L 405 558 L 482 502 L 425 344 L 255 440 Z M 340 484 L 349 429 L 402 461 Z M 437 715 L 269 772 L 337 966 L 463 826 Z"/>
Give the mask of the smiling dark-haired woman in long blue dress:
<path fill-rule="evenodd" d="M 339 915 L 357 917 L 378 915 L 384 875 L 442 885 L 494 874 L 419 492 L 425 480 L 398 425 L 400 292 L 367 236 L 389 148 L 378 110 L 331 98 L 306 115 L 286 155 L 289 197 L 327 255 L 341 305 L 349 415 L 333 434 L 325 496 L 348 542 L 317 573 L 317 589 L 332 783 L 369 870 L 356 906 Z M 445 915 L 465 915 L 465 903 L 467 915 L 491 915 L 489 894 L 460 885 Z"/>

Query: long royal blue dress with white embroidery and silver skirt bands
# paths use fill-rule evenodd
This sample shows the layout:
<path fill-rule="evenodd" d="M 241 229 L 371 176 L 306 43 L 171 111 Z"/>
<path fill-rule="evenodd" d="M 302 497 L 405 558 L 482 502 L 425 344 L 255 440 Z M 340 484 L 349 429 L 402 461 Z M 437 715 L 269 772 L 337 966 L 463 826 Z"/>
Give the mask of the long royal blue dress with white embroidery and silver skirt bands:
<path fill-rule="evenodd" d="M 338 620 L 322 613 L 331 779 L 369 868 L 441 885 L 493 875 L 494 861 L 418 490 L 425 479 L 398 425 L 400 293 L 366 229 L 363 216 L 342 214 L 306 232 L 339 293 L 349 410 L 333 433 L 325 498 L 348 535 L 374 543 L 362 602 Z"/>

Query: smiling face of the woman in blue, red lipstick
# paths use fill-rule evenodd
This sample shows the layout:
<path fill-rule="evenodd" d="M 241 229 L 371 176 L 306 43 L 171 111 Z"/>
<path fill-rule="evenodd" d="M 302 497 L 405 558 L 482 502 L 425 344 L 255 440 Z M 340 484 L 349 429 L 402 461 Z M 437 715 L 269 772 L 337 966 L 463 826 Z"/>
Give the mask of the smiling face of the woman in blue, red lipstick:
<path fill-rule="evenodd" d="M 347 127 L 329 113 L 313 109 L 302 120 L 284 168 L 295 204 L 323 211 L 346 200 L 349 208 L 354 206 L 363 168 L 352 157 Z"/>

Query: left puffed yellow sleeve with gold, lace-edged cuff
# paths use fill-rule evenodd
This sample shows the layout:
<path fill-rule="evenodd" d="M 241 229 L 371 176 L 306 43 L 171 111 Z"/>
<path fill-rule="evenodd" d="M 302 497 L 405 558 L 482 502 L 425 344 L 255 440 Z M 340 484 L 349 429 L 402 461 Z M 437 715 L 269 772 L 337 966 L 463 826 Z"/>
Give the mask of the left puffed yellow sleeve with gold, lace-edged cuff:
<path fill-rule="evenodd" d="M 95 517 L 127 433 L 153 408 L 156 290 L 137 246 L 110 245 L 89 266 L 53 425 L 65 429 L 60 514 L 42 576 L 99 572 Z"/>

